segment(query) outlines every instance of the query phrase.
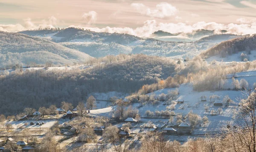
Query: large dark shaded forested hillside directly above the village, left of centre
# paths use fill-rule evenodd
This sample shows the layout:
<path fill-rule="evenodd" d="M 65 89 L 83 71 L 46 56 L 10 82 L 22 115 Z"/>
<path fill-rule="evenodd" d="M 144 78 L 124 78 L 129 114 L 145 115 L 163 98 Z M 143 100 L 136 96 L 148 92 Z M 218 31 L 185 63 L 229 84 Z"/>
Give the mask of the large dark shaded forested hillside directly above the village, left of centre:
<path fill-rule="evenodd" d="M 17 114 L 25 107 L 39 108 L 62 101 L 77 105 L 92 92 L 136 92 L 174 75 L 177 64 L 165 57 L 142 54 L 109 57 L 90 69 L 16 70 L 0 75 L 1 113 Z"/>

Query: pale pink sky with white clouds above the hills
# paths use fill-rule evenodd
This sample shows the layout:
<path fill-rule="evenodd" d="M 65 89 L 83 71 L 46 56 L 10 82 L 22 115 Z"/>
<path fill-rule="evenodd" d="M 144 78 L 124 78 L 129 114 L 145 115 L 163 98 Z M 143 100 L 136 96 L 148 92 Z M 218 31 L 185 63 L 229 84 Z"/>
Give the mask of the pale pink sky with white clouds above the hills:
<path fill-rule="evenodd" d="M 83 27 L 148 36 L 195 29 L 256 33 L 256 0 L 0 0 L 0 30 Z"/>

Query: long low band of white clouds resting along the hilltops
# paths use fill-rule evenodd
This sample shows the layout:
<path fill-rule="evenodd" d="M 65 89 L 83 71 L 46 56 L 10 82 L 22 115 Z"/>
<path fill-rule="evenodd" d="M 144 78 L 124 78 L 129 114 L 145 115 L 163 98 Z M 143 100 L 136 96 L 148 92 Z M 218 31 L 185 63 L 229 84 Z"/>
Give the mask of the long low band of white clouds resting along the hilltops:
<path fill-rule="evenodd" d="M 24 20 L 23 25 L 21 24 L 9 24 L 4 25 L 0 24 L 0 31 L 5 32 L 18 32 L 23 30 L 33 30 L 33 29 L 44 29 L 44 28 L 52 28 L 58 27 L 55 26 L 57 23 L 57 19 L 55 17 L 49 17 L 49 20 L 44 21 L 42 24 L 35 24 L 30 18 Z M 71 25 L 69 27 L 79 27 L 84 29 L 90 29 L 95 32 L 109 32 L 109 33 L 126 33 L 139 37 L 148 37 L 153 32 L 162 30 L 170 33 L 177 32 L 193 32 L 197 29 L 208 29 L 215 30 L 217 33 L 221 30 L 227 30 L 228 33 L 232 34 L 255 34 L 256 33 L 256 20 L 246 20 L 244 18 L 240 18 L 237 20 L 239 24 L 230 23 L 230 24 L 221 24 L 215 22 L 198 22 L 195 24 L 187 24 L 187 23 L 157 23 L 156 20 L 147 20 L 144 22 L 143 26 L 137 27 L 136 29 L 132 29 L 130 27 L 119 28 L 119 27 L 88 27 L 82 25 Z"/>

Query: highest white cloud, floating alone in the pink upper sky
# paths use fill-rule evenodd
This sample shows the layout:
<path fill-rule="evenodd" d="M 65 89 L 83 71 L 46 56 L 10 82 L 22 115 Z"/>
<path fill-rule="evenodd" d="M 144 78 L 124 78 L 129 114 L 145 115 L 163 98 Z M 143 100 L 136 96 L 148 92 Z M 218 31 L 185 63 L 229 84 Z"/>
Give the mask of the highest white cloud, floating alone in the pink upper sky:
<path fill-rule="evenodd" d="M 159 3 L 155 9 L 150 9 L 143 3 L 132 3 L 131 6 L 140 14 L 156 18 L 170 17 L 178 11 L 176 7 L 169 3 Z"/>

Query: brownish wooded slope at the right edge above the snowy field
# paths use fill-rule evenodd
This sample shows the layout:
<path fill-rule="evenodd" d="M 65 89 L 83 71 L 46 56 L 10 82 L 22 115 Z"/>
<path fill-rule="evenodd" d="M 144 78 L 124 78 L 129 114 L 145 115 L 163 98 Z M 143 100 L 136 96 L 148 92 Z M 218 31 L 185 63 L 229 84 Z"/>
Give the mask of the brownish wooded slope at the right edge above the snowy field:
<path fill-rule="evenodd" d="M 256 34 L 253 34 L 252 36 L 238 37 L 235 39 L 221 42 L 218 45 L 213 46 L 207 51 L 201 53 L 201 56 L 205 58 L 215 55 L 220 55 L 220 57 L 226 57 L 228 55 L 243 51 L 247 51 L 247 53 L 250 54 L 250 51 L 254 49 L 256 49 Z"/>

